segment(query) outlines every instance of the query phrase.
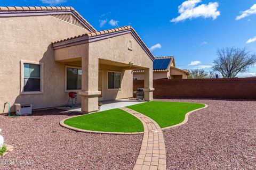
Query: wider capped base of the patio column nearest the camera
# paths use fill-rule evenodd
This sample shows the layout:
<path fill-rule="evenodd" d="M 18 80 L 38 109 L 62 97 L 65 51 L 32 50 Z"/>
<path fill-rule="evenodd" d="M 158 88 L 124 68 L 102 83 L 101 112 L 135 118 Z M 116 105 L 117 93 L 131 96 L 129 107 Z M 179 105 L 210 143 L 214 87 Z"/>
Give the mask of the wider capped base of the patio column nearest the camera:
<path fill-rule="evenodd" d="M 99 110 L 98 96 L 101 94 L 100 91 L 79 91 L 78 94 L 81 96 L 81 111 L 84 114 L 95 112 Z"/>

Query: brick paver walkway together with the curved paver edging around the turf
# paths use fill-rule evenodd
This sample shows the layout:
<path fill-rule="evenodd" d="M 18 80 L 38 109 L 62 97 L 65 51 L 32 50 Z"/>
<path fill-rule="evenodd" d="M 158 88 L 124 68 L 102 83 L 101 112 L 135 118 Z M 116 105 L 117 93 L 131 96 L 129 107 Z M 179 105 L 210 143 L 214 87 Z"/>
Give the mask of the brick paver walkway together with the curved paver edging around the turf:
<path fill-rule="evenodd" d="M 205 105 L 205 104 L 204 104 Z M 107 134 L 140 134 L 143 133 L 142 144 L 140 148 L 140 153 L 137 158 L 137 162 L 135 163 L 133 170 L 141 170 L 141 169 L 166 169 L 166 151 L 165 151 L 165 144 L 164 144 L 164 137 L 162 130 L 174 128 L 180 125 L 187 123 L 189 114 L 196 112 L 200 109 L 206 108 L 205 107 L 195 109 L 194 111 L 188 112 L 185 115 L 185 119 L 176 125 L 172 125 L 166 128 L 162 128 L 150 117 L 143 115 L 139 112 L 136 112 L 130 108 L 122 107 L 123 111 L 137 117 L 141 123 L 143 124 L 144 132 L 135 132 L 135 133 L 124 133 L 124 132 L 101 132 L 101 131 L 89 131 L 83 129 L 77 129 L 72 126 L 66 125 L 64 123 L 68 117 L 60 121 L 60 125 L 75 130 L 78 132 L 89 132 L 89 133 L 107 133 Z M 81 116 L 81 115 L 78 115 Z M 77 117 L 77 116 L 73 116 Z"/>

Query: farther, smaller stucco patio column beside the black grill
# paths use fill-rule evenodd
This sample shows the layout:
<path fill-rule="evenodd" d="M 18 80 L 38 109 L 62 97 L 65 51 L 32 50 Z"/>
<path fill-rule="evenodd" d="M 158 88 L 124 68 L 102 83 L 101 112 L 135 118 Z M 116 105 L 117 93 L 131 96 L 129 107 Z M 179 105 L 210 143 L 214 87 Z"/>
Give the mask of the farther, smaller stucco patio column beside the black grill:
<path fill-rule="evenodd" d="M 145 69 L 144 71 L 144 94 L 145 94 L 145 100 L 146 101 L 151 101 L 153 100 L 153 91 L 155 90 L 153 88 L 153 69 L 152 68 L 148 68 Z"/>

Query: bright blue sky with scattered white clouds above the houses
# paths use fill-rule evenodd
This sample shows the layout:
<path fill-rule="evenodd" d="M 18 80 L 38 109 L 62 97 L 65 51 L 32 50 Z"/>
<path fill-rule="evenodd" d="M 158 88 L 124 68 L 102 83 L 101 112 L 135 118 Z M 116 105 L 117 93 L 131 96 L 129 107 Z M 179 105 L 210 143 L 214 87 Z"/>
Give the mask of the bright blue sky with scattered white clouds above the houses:
<path fill-rule="evenodd" d="M 256 53 L 255 0 L 0 0 L 0 6 L 50 5 L 73 6 L 97 30 L 131 25 L 155 56 L 175 56 L 181 69 L 209 71 L 222 47 Z M 256 76 L 256 66 L 239 75 L 247 76 Z"/>

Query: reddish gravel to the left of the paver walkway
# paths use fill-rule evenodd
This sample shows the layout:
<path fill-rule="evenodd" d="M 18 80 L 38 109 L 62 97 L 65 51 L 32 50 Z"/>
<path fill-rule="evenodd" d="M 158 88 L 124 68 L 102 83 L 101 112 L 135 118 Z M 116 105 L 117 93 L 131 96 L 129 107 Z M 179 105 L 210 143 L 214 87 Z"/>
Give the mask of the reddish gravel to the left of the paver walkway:
<path fill-rule="evenodd" d="M 77 113 L 56 109 L 18 118 L 0 115 L 5 143 L 14 146 L 12 152 L 0 158 L 0 169 L 133 168 L 139 155 L 142 134 L 82 133 L 59 125 L 63 118 L 74 115 Z M 30 160 L 30 163 L 6 165 L 1 162 L 3 160 Z"/>

